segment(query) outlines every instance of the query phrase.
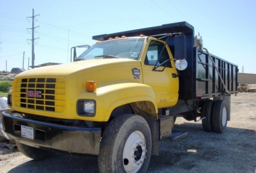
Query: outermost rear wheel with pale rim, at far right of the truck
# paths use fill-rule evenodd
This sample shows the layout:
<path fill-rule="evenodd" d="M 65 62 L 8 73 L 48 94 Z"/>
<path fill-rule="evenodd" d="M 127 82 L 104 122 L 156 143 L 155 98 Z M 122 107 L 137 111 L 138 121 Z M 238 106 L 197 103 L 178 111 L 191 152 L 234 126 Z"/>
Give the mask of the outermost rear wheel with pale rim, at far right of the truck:
<path fill-rule="evenodd" d="M 217 100 L 213 107 L 213 131 L 223 133 L 226 129 L 226 123 L 230 112 L 224 100 Z"/>

